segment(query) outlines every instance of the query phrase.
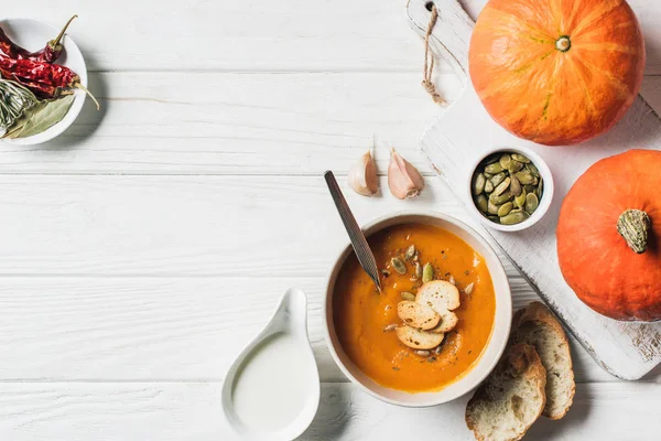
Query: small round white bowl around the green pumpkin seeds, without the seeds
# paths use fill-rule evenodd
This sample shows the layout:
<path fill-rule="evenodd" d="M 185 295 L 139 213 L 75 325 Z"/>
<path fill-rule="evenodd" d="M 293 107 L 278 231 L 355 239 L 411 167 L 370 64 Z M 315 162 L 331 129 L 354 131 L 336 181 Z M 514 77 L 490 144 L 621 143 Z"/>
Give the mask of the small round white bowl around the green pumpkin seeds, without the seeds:
<path fill-rule="evenodd" d="M 490 157 L 494 153 L 508 153 L 508 152 L 520 153 L 520 154 L 523 154 L 524 157 L 527 157 L 528 159 L 530 159 L 530 161 L 532 161 L 532 163 L 540 171 L 540 175 L 542 176 L 542 180 L 544 182 L 544 192 L 542 193 L 542 197 L 540 198 L 540 205 L 539 205 L 538 209 L 535 209 L 534 213 L 528 219 L 523 220 L 520 224 L 516 224 L 516 225 L 496 224 L 495 222 L 491 222 L 487 217 L 485 217 L 480 213 L 480 211 L 477 209 L 477 206 L 475 205 L 475 202 L 473 201 L 473 194 L 470 191 L 470 187 L 473 185 L 473 174 L 475 173 L 475 170 L 477 169 L 479 163 L 483 162 L 485 160 L 485 158 Z M 469 173 L 468 173 L 468 181 L 466 184 L 466 195 L 465 195 L 468 198 L 468 204 L 467 204 L 468 212 L 470 213 L 470 215 L 473 215 L 473 217 L 475 217 L 483 225 L 485 225 L 489 228 L 498 229 L 500 232 L 520 232 L 522 229 L 529 228 L 529 227 L 533 226 L 534 224 L 537 224 L 544 216 L 544 214 L 546 214 L 546 212 L 549 211 L 549 207 L 551 206 L 551 202 L 553 202 L 553 190 L 554 189 L 553 189 L 553 175 L 551 174 L 551 169 L 549 169 L 549 165 L 546 165 L 544 160 L 539 154 L 537 154 L 534 151 L 532 151 L 530 149 L 527 149 L 523 147 L 498 147 L 498 148 L 495 148 L 495 149 L 486 152 L 481 157 L 479 157 L 478 160 L 475 161 L 468 170 L 469 170 Z"/>

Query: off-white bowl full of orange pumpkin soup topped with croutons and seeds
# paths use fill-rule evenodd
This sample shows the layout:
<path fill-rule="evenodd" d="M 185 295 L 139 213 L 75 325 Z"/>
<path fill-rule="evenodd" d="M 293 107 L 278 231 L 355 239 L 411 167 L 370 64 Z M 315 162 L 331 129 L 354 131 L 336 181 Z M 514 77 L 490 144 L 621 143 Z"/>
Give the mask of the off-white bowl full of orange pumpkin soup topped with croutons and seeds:
<path fill-rule="evenodd" d="M 506 272 L 470 227 L 401 212 L 364 228 L 379 292 L 346 246 L 326 282 L 326 341 L 343 373 L 393 405 L 435 406 L 477 387 L 500 358 L 512 319 Z"/>

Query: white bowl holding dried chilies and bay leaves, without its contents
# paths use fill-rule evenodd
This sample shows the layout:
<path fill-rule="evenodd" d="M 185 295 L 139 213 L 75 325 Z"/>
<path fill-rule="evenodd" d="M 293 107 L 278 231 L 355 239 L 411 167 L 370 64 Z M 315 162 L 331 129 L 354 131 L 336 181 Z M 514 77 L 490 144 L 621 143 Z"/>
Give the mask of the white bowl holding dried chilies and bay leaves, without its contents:
<path fill-rule="evenodd" d="M 75 24 L 75 22 L 72 23 L 72 25 Z M 61 25 L 64 25 L 64 22 Z M 32 52 L 43 49 L 61 31 L 56 26 L 31 19 L 0 20 L 0 28 L 2 28 L 11 41 Z M 85 65 L 80 50 L 68 34 L 64 35 L 62 45 L 64 46 L 64 51 L 62 52 L 62 56 L 55 61 L 55 64 L 61 64 L 74 71 L 80 77 L 80 84 L 87 87 L 87 66 Z M 76 120 L 83 109 L 86 98 L 85 93 L 83 90 L 74 90 L 74 103 L 62 121 L 32 137 L 3 139 L 2 142 L 14 146 L 34 146 L 57 137 Z"/>

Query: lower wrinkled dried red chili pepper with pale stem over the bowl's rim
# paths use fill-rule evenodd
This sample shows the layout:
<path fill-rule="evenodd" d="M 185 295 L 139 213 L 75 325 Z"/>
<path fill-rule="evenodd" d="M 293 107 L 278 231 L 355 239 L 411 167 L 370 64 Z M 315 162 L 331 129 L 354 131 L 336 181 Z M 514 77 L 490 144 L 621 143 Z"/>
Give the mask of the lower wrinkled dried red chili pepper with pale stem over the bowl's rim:
<path fill-rule="evenodd" d="M 78 88 L 89 95 L 97 109 L 100 108 L 94 95 L 80 84 L 78 74 L 66 66 L 0 56 L 0 75 L 24 85 L 42 98 L 55 98 L 62 89 Z"/>

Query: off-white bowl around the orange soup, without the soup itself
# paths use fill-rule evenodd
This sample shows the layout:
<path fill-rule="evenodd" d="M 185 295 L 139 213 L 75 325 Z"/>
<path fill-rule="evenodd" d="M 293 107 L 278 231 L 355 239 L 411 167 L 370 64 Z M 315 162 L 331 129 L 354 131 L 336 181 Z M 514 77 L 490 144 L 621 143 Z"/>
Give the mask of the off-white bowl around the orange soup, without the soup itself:
<path fill-rule="evenodd" d="M 496 316 L 489 342 L 476 365 L 462 378 L 441 390 L 418 394 L 410 394 L 381 386 L 365 375 L 344 352 L 337 338 L 335 322 L 333 321 L 333 291 L 343 263 L 349 254 L 353 252 L 351 247 L 348 245 L 335 260 L 333 269 L 326 280 L 322 316 L 324 320 L 326 343 L 330 349 L 330 355 L 351 383 L 381 401 L 404 407 L 429 407 L 454 400 L 469 392 L 496 367 L 509 337 L 512 321 L 512 299 L 507 275 L 498 256 L 496 256 L 496 252 L 486 240 L 477 234 L 477 232 L 454 217 L 434 212 L 398 212 L 370 222 L 362 228 L 362 232 L 369 237 L 392 225 L 411 223 L 429 224 L 444 228 L 470 245 L 473 249 L 479 252 L 486 260 L 496 292 Z"/>

